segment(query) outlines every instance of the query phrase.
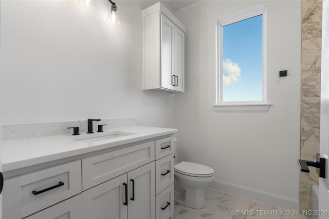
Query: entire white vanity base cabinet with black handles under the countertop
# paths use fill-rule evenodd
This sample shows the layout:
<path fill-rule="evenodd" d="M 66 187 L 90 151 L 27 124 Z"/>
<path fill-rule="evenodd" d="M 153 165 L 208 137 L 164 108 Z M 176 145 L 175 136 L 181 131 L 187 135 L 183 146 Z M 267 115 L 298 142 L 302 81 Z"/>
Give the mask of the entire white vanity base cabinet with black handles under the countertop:
<path fill-rule="evenodd" d="M 5 179 L 3 218 L 172 218 L 173 137 L 166 136 Z"/>

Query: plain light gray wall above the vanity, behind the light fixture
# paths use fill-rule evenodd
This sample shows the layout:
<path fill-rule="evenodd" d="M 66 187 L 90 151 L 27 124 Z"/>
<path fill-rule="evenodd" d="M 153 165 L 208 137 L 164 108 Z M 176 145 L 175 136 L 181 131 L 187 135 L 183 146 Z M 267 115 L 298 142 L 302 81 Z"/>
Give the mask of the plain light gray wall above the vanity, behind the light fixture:
<path fill-rule="evenodd" d="M 142 6 L 118 1 L 121 25 L 77 1 L 2 1 L 3 124 L 138 117 L 173 127 L 173 95 L 142 90 Z"/>

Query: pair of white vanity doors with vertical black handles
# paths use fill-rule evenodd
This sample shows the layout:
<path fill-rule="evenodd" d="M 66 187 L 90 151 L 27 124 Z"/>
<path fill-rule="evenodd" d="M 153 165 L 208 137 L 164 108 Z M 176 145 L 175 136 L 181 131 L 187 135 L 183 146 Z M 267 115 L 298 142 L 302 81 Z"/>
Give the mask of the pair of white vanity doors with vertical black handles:
<path fill-rule="evenodd" d="M 82 192 L 83 219 L 155 218 L 154 162 Z"/>

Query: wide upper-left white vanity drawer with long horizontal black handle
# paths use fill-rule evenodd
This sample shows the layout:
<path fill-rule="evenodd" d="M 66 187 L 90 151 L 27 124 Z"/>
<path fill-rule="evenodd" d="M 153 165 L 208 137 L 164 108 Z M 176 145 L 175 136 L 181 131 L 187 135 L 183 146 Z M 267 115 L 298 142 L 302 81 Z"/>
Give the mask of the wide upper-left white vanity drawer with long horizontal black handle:
<path fill-rule="evenodd" d="M 10 178 L 4 182 L 4 218 L 23 218 L 81 192 L 81 161 Z"/>

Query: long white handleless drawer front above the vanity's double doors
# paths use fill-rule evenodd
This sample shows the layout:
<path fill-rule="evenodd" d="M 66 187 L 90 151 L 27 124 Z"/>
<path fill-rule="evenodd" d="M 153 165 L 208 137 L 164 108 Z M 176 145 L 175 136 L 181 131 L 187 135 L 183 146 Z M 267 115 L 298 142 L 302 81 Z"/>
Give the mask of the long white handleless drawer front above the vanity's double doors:
<path fill-rule="evenodd" d="M 154 141 L 82 160 L 83 191 L 154 161 Z"/>

